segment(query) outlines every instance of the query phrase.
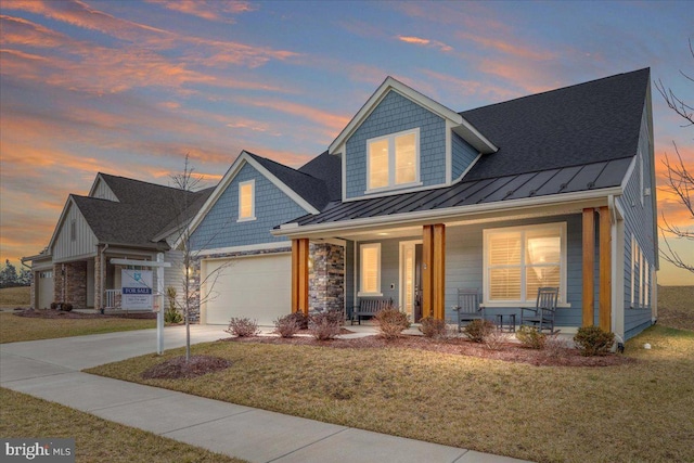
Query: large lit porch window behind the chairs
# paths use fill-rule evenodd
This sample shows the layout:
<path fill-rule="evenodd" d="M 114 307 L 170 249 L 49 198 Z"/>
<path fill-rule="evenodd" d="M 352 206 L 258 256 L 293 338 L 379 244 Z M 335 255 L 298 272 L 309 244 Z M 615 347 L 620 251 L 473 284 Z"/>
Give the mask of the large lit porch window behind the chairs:
<path fill-rule="evenodd" d="M 485 230 L 485 303 L 535 304 L 538 288 L 566 300 L 566 223 Z"/>

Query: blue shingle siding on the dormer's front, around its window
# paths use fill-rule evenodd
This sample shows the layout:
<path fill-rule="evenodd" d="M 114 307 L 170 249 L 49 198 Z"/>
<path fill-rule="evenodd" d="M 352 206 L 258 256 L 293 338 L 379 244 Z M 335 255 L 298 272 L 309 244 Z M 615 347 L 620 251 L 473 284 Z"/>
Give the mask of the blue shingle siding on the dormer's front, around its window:
<path fill-rule="evenodd" d="M 420 180 L 426 185 L 446 181 L 446 123 L 436 114 L 390 91 L 347 140 L 347 197 L 367 191 L 367 140 L 420 128 Z"/>

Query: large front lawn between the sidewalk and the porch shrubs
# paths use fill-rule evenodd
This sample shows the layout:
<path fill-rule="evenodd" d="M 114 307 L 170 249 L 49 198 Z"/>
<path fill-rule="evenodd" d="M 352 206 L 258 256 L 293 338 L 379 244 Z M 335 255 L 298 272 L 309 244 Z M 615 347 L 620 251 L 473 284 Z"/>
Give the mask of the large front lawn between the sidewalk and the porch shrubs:
<path fill-rule="evenodd" d="M 650 343 L 653 348 L 641 346 Z M 694 461 L 694 333 L 654 326 L 618 366 L 535 366 L 408 348 L 217 342 L 232 362 L 185 380 L 142 380 L 180 356 L 88 370 L 396 436 L 540 462 Z"/>

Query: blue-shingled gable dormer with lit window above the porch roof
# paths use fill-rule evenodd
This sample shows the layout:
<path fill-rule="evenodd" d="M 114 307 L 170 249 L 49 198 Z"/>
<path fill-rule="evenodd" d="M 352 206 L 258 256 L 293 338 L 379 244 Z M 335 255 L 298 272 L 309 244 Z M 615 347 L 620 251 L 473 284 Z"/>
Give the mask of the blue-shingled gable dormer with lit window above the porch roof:
<path fill-rule="evenodd" d="M 342 156 L 343 201 L 450 185 L 494 151 L 460 114 L 393 77 L 329 150 Z"/>

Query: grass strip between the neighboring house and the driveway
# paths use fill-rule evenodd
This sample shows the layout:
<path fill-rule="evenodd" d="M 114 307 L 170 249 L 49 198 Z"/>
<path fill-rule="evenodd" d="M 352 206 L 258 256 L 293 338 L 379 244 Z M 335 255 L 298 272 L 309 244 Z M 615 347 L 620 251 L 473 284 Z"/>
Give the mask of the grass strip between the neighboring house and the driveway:
<path fill-rule="evenodd" d="M 52 339 L 153 327 L 156 327 L 156 320 L 123 318 L 41 319 L 16 317 L 10 312 L 0 312 L 0 343 Z"/>

